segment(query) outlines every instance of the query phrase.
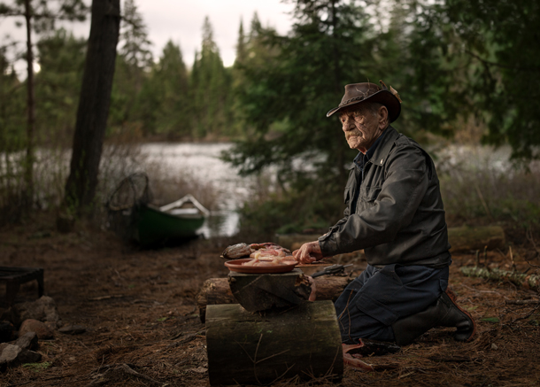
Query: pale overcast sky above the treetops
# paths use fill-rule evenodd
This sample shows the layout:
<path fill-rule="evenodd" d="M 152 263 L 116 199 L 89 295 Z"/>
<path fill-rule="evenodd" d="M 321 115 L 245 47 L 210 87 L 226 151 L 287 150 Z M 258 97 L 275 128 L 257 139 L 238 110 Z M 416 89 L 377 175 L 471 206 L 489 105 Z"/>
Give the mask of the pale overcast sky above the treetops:
<path fill-rule="evenodd" d="M 121 2 L 123 4 L 124 0 Z M 274 27 L 281 34 L 289 32 L 291 26 L 288 12 L 292 5 L 282 4 L 281 0 L 135 0 L 135 5 L 148 27 L 154 60 L 159 58 L 166 42 L 171 39 L 180 44 L 184 62 L 189 67 L 193 65 L 195 50 L 200 50 L 205 16 L 210 18 L 225 66 L 231 66 L 235 61 L 240 19 L 243 19 L 244 31 L 249 29 L 253 12 L 258 12 L 258 18 L 265 27 Z M 89 36 L 89 21 L 66 24 L 66 27 L 77 36 Z M 6 33 L 20 40 L 25 38 L 24 27 L 15 27 L 15 18 L 0 19 L 2 41 Z"/>

